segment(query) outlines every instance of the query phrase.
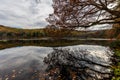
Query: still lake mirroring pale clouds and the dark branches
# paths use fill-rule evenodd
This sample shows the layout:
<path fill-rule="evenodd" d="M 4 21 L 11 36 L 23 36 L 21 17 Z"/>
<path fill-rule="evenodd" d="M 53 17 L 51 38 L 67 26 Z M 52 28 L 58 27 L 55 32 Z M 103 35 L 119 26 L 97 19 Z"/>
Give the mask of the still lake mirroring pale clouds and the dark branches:
<path fill-rule="evenodd" d="M 38 42 L 1 43 L 7 45 L 0 50 L 0 80 L 107 80 L 111 76 L 113 52 L 107 46 L 42 47 Z"/>

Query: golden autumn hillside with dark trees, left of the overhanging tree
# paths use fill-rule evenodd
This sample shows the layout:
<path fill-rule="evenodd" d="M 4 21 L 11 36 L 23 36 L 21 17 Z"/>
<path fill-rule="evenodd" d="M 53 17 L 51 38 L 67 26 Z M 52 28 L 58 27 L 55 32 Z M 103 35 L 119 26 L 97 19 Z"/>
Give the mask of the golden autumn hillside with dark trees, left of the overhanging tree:
<path fill-rule="evenodd" d="M 18 29 L 0 25 L 0 39 L 38 38 L 45 36 L 43 29 Z"/>

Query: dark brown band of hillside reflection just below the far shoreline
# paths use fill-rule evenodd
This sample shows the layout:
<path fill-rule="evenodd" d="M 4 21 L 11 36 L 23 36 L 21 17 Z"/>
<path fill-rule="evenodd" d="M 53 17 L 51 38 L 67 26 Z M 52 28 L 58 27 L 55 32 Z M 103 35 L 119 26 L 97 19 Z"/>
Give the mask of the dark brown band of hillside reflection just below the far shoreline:
<path fill-rule="evenodd" d="M 108 45 L 109 41 L 98 40 L 8 40 L 0 41 L 0 49 L 17 47 L 17 46 L 45 46 L 45 47 L 58 47 L 58 46 L 71 46 L 78 44 L 89 45 Z"/>

